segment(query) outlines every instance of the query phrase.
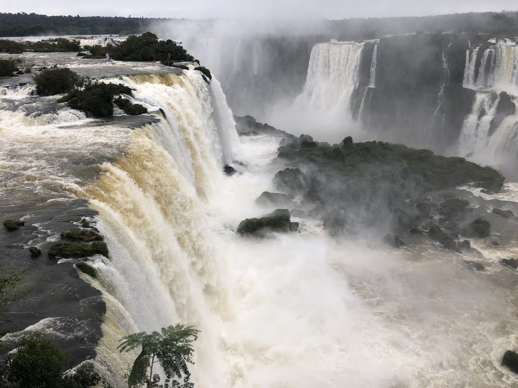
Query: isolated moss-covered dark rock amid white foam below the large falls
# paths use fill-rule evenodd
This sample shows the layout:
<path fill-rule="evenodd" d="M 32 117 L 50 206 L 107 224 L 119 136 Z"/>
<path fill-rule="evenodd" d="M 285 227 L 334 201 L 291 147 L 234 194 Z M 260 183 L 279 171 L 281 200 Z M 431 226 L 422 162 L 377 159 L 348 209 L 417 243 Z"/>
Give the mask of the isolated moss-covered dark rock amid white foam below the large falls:
<path fill-rule="evenodd" d="M 290 221 L 290 211 L 277 209 L 261 218 L 247 218 L 239 223 L 237 233 L 265 237 L 271 232 L 288 233 L 298 230 L 298 222 Z"/>

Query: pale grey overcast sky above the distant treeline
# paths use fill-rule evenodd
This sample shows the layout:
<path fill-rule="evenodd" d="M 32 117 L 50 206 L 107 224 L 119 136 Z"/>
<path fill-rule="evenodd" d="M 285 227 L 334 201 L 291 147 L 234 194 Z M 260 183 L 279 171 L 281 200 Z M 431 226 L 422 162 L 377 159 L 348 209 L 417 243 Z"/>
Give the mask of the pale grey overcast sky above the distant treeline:
<path fill-rule="evenodd" d="M 516 0 L 2 0 L 1 12 L 160 18 L 345 19 L 518 10 Z"/>

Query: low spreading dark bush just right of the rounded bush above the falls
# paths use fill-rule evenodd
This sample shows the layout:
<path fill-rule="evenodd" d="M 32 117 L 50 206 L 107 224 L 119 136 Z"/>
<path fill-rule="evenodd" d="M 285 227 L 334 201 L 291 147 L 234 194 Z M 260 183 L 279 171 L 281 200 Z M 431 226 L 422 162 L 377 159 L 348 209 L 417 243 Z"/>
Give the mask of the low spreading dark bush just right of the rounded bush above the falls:
<path fill-rule="evenodd" d="M 80 109 L 93 117 L 113 115 L 113 99 L 120 94 L 131 95 L 131 89 L 122 84 L 84 80 L 83 87 L 75 88 L 57 102 L 68 102 L 73 109 Z"/>

